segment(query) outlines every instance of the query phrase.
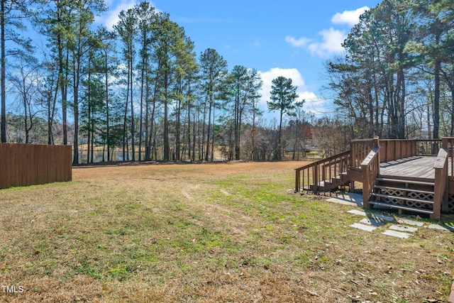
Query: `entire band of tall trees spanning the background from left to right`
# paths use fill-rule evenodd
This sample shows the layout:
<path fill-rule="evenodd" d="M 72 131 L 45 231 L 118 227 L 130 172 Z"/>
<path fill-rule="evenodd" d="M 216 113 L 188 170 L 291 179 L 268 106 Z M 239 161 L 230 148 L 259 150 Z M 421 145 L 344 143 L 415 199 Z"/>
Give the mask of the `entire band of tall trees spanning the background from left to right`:
<path fill-rule="evenodd" d="M 100 149 L 103 161 L 114 152 L 122 160 L 296 160 L 311 144 L 332 154 L 353 138 L 454 135 L 450 0 L 385 0 L 366 11 L 345 55 L 326 65 L 336 113 L 314 119 L 292 79 L 277 77 L 271 121 L 259 106 L 260 72 L 229 70 L 212 48 L 196 54 L 184 28 L 146 1 L 121 11 L 113 31 L 93 25 L 103 0 L 2 4 L 1 142 L 71 144 L 74 164 L 96 161 Z M 39 33 L 34 43 L 26 23 Z"/>

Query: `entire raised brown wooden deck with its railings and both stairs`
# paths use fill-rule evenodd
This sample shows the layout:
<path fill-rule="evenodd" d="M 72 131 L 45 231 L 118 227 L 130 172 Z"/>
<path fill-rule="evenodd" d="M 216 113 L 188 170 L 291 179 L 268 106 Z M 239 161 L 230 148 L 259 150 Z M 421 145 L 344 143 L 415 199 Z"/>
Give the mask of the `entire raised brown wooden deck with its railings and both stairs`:
<path fill-rule="evenodd" d="M 430 214 L 454 213 L 454 137 L 362 139 L 350 150 L 295 169 L 295 192 L 327 192 L 362 183 L 365 208 L 375 205 Z M 301 186 L 302 185 L 302 186 Z"/>

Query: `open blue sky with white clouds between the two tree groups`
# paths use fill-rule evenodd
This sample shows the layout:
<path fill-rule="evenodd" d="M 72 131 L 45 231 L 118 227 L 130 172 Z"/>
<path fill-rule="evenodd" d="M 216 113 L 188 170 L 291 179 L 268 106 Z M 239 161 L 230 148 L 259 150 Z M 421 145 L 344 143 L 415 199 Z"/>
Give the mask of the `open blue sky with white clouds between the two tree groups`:
<path fill-rule="evenodd" d="M 106 0 L 109 11 L 96 23 L 112 28 L 118 13 L 140 0 Z M 305 111 L 316 117 L 329 115 L 332 100 L 323 99 L 324 64 L 342 55 L 341 43 L 365 10 L 378 0 L 153 0 L 157 9 L 184 27 L 199 56 L 214 48 L 228 63 L 255 68 L 262 76 L 262 100 L 266 109 L 271 82 L 292 78 Z"/>

